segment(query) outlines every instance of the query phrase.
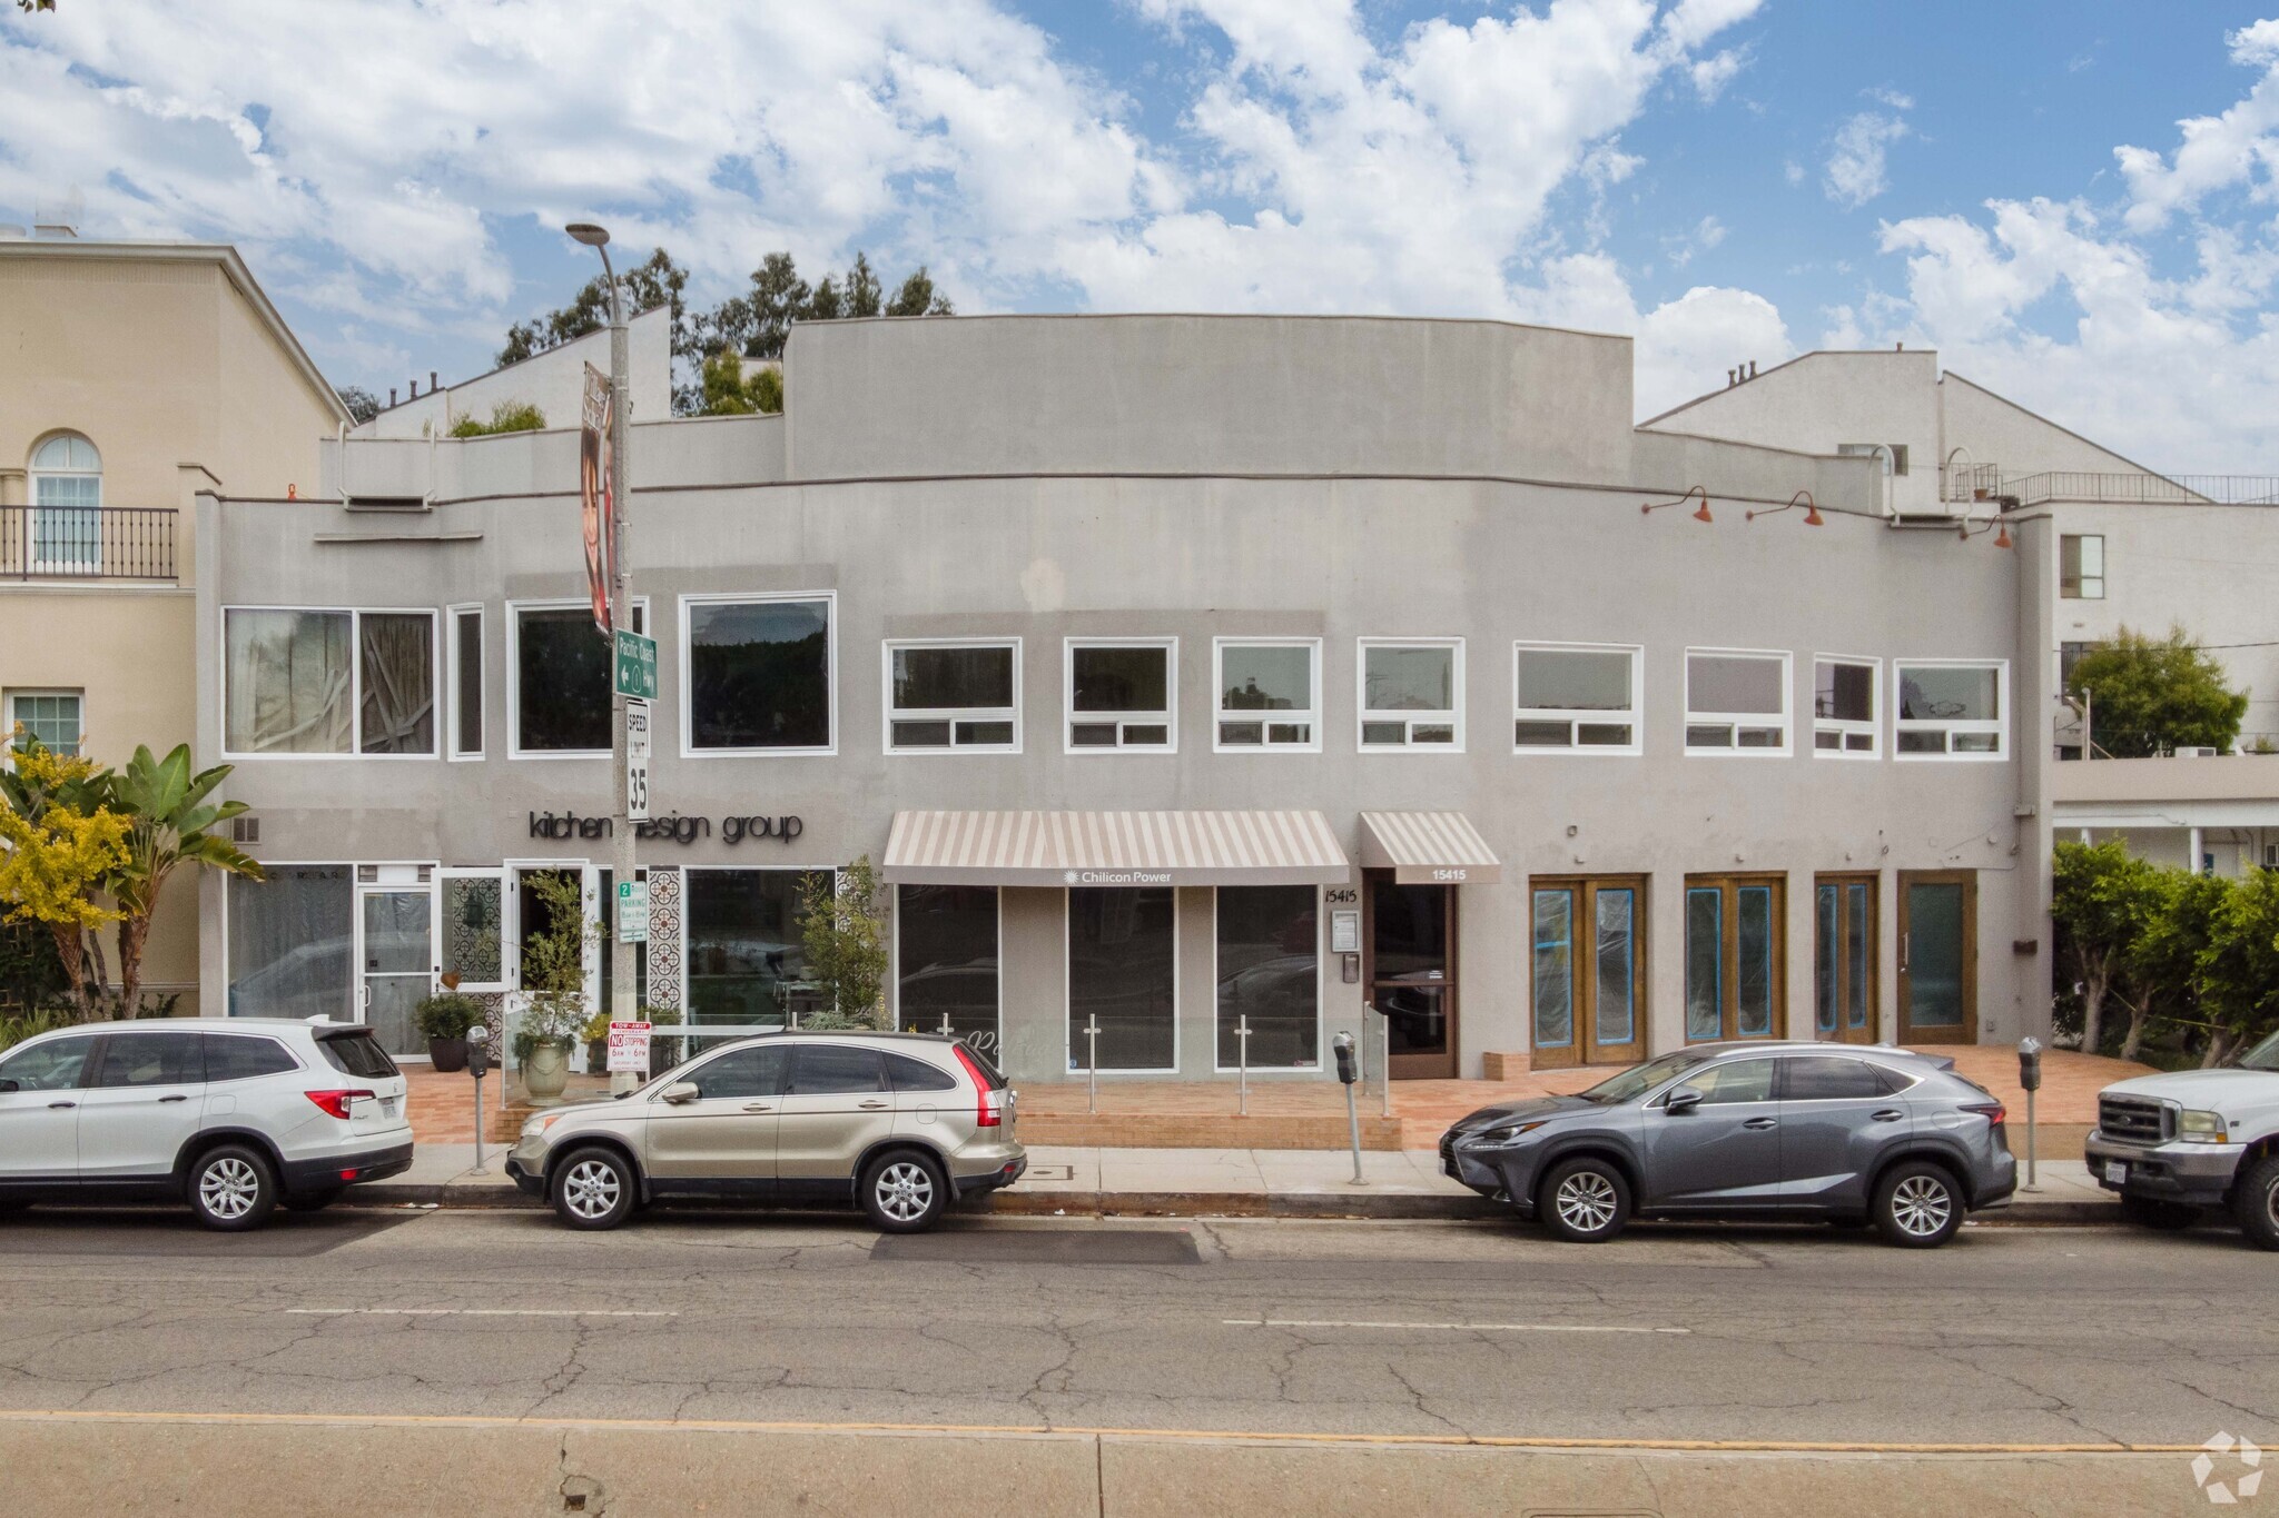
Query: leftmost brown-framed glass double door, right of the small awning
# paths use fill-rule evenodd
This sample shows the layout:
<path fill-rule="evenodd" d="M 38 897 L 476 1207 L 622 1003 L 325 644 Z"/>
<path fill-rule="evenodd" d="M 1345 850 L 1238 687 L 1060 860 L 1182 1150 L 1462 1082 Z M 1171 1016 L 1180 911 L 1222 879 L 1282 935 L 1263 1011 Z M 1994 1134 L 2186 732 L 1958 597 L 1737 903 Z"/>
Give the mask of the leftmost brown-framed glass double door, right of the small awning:
<path fill-rule="evenodd" d="M 1529 890 L 1534 1070 L 1645 1058 L 1645 876 L 1536 878 Z"/>

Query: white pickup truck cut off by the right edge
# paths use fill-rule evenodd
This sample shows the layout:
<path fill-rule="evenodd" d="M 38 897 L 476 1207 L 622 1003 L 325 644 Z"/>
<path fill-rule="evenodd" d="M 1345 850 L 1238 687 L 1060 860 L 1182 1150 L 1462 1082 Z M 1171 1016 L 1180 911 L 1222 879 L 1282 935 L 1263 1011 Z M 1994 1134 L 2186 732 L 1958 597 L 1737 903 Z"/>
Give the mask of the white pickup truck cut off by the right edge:
<path fill-rule="evenodd" d="M 2186 1229 L 2202 1208 L 2279 1249 L 2279 1033 L 2231 1070 L 2176 1070 L 2097 1092 L 2090 1174 L 2145 1227 Z"/>

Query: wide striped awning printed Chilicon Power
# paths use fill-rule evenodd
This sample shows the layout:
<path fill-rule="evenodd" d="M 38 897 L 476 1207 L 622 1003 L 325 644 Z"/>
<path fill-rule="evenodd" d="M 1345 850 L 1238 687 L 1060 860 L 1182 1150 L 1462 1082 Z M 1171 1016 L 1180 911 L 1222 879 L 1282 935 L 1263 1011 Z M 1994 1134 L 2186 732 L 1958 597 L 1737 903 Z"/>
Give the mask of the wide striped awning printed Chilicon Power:
<path fill-rule="evenodd" d="M 1322 812 L 896 812 L 898 885 L 1345 885 Z"/>

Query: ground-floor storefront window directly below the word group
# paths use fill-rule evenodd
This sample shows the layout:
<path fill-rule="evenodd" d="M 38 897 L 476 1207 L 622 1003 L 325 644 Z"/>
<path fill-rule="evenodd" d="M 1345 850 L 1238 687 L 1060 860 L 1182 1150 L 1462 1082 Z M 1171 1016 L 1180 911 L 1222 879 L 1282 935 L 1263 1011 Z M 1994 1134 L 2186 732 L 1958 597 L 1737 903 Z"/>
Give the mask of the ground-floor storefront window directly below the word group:
<path fill-rule="evenodd" d="M 691 869 L 686 874 L 688 1022 L 784 1022 L 820 1006 L 800 944 L 807 869 Z"/>

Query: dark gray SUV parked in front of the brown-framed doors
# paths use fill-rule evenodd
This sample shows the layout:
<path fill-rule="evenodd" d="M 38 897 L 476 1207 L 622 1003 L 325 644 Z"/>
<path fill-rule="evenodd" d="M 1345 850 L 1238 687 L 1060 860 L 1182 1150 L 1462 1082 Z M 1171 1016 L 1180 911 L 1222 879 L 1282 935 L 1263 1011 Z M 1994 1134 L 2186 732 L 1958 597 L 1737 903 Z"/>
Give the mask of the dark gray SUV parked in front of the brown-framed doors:
<path fill-rule="evenodd" d="M 2003 1106 L 1953 1061 L 1892 1047 L 1693 1045 L 1573 1097 L 1486 1106 L 1440 1168 L 1559 1238 L 1636 1218 L 1873 1222 L 1910 1249 L 2003 1206 Z"/>

